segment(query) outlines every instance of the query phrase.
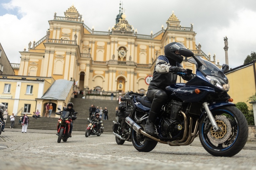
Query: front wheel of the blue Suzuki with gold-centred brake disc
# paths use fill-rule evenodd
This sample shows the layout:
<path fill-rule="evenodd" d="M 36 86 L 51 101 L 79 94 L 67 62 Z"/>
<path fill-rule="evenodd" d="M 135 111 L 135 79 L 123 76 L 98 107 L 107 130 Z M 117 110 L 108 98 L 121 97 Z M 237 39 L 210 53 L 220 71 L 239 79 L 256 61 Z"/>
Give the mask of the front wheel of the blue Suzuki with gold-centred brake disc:
<path fill-rule="evenodd" d="M 231 157 L 239 153 L 248 138 L 248 124 L 243 113 L 235 106 L 219 107 L 212 112 L 221 127 L 215 132 L 208 126 L 208 117 L 199 122 L 199 138 L 204 149 L 213 156 Z"/>

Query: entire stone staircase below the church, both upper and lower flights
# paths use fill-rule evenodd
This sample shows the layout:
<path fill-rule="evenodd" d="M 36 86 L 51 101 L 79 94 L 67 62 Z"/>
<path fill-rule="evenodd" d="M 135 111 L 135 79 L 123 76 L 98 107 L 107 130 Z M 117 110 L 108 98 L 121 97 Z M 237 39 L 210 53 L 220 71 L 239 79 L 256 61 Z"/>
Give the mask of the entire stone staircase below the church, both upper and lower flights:
<path fill-rule="evenodd" d="M 89 107 L 93 104 L 95 107 L 99 106 L 104 109 L 107 107 L 108 109 L 108 120 L 103 120 L 103 127 L 104 132 L 112 132 L 112 124 L 113 120 L 116 120 L 115 116 L 115 107 L 118 106 L 118 102 L 115 100 L 99 100 L 99 99 L 83 99 L 83 95 L 79 94 L 77 98 L 72 98 L 71 102 L 74 104 L 74 109 L 77 114 L 77 119 L 73 123 L 73 130 L 75 131 L 84 131 L 87 128 L 88 122 L 87 118 L 89 117 Z M 33 117 L 29 117 L 29 125 L 28 129 L 42 129 L 42 130 L 56 130 L 57 131 L 57 124 L 58 118 L 52 115 L 51 118 L 49 117 L 39 117 L 37 119 Z M 20 115 L 17 115 L 15 118 L 15 125 L 14 128 L 21 128 L 19 125 L 19 118 Z M 6 121 L 5 128 L 10 128 L 10 116 Z M 21 129 L 20 129 L 21 131 Z"/>

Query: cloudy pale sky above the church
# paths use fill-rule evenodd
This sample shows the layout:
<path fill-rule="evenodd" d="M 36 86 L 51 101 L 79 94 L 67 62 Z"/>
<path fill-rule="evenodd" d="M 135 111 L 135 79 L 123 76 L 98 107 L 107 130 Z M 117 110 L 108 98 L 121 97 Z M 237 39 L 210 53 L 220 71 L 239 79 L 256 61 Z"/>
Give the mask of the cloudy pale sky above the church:
<path fill-rule="evenodd" d="M 120 0 L 0 0 L 0 43 L 11 63 L 20 62 L 20 53 L 29 41 L 46 35 L 49 20 L 65 16 L 74 5 L 85 25 L 95 31 L 108 31 L 115 24 Z M 182 27 L 196 32 L 196 44 L 216 60 L 225 63 L 224 37 L 228 37 L 229 65 L 243 64 L 256 51 L 255 0 L 122 0 L 126 20 L 138 34 L 157 33 L 174 11 Z"/>

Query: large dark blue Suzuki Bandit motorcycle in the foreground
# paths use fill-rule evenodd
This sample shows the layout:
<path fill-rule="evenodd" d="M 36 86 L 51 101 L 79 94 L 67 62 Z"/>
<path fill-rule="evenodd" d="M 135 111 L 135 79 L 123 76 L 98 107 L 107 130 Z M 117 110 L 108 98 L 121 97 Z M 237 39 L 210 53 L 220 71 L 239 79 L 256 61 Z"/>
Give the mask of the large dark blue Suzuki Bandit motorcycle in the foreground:
<path fill-rule="evenodd" d="M 158 142 L 170 146 L 189 145 L 199 136 L 204 149 L 213 156 L 231 157 L 243 149 L 248 138 L 248 124 L 243 113 L 232 103 L 228 95 L 229 82 L 222 70 L 188 49 L 179 53 L 191 57 L 196 64 L 196 74 L 187 69 L 178 75 L 191 77 L 187 83 L 166 87 L 168 100 L 163 104 L 155 121 L 155 134 L 149 135 L 144 126 L 152 103 L 144 94 L 127 92 L 130 115 L 125 121 L 132 127 L 131 140 L 140 152 L 152 151 Z"/>

